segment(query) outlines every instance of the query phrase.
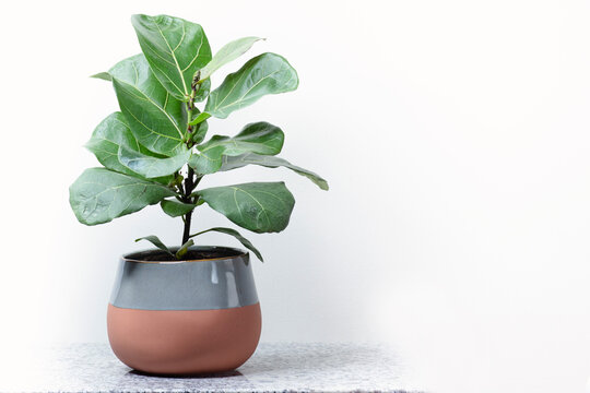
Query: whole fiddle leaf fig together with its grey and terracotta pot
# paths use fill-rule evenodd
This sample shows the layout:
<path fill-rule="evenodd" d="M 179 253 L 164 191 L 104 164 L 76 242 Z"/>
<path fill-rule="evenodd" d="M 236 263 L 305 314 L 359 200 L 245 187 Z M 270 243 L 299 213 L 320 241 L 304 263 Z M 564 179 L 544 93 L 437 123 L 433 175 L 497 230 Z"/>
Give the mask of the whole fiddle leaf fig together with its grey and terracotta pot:
<path fill-rule="evenodd" d="M 103 167 L 82 172 L 70 187 L 70 204 L 85 225 L 108 223 L 156 203 L 185 223 L 179 247 L 144 236 L 135 241 L 148 240 L 155 249 L 121 257 L 107 312 L 117 357 L 152 373 L 231 370 L 251 356 L 260 336 L 249 253 L 194 246 L 194 238 L 208 231 L 226 234 L 260 261 L 262 255 L 233 228 L 192 233 L 194 210 L 206 204 L 241 228 L 278 233 L 287 226 L 295 201 L 283 182 L 201 189 L 201 180 L 260 165 L 292 169 L 322 190 L 328 183 L 276 157 L 284 140 L 279 127 L 257 121 L 234 136 L 206 139 L 208 119 L 225 119 L 264 95 L 296 90 L 297 73 L 283 57 L 262 53 L 211 90 L 212 74 L 260 38 L 234 40 L 212 56 L 196 23 L 167 15 L 133 15 L 131 22 L 142 53 L 94 75 L 113 83 L 120 111 L 94 130 L 86 147 Z"/>

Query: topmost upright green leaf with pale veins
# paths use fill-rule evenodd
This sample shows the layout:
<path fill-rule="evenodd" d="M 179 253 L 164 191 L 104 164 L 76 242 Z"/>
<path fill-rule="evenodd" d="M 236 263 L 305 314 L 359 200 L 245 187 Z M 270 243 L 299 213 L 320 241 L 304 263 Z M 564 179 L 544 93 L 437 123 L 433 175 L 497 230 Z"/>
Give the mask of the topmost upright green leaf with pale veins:
<path fill-rule="evenodd" d="M 194 73 L 211 61 L 203 28 L 168 15 L 133 15 L 131 23 L 156 78 L 172 95 L 187 100 Z"/>

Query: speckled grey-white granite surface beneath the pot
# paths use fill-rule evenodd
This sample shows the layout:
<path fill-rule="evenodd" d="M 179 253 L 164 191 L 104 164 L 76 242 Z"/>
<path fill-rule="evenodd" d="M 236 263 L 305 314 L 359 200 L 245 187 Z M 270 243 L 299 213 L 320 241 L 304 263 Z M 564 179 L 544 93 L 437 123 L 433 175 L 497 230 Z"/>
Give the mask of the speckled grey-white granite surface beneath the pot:
<path fill-rule="evenodd" d="M 2 370 L 0 392 L 420 392 L 394 352 L 381 345 L 260 344 L 237 371 L 149 377 L 122 365 L 107 344 L 36 353 Z M 24 367 L 24 368 L 23 368 Z"/>

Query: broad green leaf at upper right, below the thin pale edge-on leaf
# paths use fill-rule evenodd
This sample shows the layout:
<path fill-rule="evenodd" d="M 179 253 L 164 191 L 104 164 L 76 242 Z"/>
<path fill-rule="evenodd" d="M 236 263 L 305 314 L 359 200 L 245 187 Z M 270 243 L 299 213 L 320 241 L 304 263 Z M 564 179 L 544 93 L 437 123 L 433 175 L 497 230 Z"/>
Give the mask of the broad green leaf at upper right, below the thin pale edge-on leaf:
<path fill-rule="evenodd" d="M 283 57 L 262 53 L 227 75 L 210 93 L 204 111 L 225 119 L 234 110 L 251 105 L 267 94 L 292 92 L 298 84 L 297 72 Z"/>

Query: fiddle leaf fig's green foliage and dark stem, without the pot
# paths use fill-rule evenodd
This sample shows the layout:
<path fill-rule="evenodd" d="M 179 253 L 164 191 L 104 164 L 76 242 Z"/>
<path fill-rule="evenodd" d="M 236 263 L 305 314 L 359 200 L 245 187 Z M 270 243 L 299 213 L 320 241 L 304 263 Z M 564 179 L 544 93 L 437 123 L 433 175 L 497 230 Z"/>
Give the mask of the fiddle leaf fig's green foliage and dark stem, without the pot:
<path fill-rule="evenodd" d="M 86 143 L 103 167 L 84 170 L 70 187 L 76 218 L 85 225 L 104 224 L 160 203 L 165 214 L 184 221 L 180 247 L 173 252 L 154 235 L 135 241 L 148 240 L 181 260 L 197 236 L 215 231 L 233 236 L 262 261 L 236 229 L 191 234 L 194 211 L 206 204 L 247 230 L 279 233 L 288 225 L 293 194 L 282 181 L 200 189 L 203 177 L 258 165 L 288 168 L 322 190 L 328 182 L 276 157 L 284 143 L 281 128 L 256 121 L 233 136 L 206 140 L 209 120 L 225 119 L 266 95 L 296 90 L 297 72 L 283 57 L 262 53 L 212 90 L 215 72 L 262 38 L 239 38 L 212 55 L 199 24 L 168 15 L 133 15 L 131 22 L 142 53 L 93 75 L 113 84 L 120 111 L 107 116 Z"/>

